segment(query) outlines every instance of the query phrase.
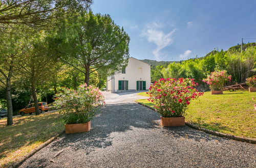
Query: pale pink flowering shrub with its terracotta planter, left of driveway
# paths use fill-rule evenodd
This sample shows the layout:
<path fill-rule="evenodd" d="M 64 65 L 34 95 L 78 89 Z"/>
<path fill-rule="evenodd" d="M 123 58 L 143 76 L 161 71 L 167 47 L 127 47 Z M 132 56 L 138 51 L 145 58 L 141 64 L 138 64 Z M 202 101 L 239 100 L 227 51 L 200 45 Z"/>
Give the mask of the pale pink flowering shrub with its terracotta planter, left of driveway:
<path fill-rule="evenodd" d="M 66 123 L 66 133 L 90 131 L 92 118 L 105 103 L 99 89 L 86 84 L 77 90 L 62 88 L 55 97 L 54 107 Z"/>

